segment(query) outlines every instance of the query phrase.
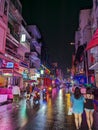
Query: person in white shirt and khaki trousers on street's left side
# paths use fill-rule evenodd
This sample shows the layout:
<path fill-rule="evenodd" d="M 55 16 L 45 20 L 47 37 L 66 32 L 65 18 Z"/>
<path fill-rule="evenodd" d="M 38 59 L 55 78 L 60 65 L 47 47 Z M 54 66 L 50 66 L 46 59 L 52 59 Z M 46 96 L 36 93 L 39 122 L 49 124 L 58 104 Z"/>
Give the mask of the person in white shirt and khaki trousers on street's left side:
<path fill-rule="evenodd" d="M 19 88 L 18 84 L 13 86 L 12 94 L 13 94 L 13 103 L 18 107 L 19 106 L 19 97 L 20 97 L 20 88 Z"/>

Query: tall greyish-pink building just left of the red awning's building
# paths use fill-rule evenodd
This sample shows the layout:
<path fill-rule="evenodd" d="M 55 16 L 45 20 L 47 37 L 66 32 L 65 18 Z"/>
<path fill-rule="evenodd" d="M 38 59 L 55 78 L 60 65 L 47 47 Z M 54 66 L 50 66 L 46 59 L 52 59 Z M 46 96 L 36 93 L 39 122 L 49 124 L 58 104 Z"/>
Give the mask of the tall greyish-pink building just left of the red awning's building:
<path fill-rule="evenodd" d="M 79 28 L 75 35 L 75 66 L 76 73 L 86 75 L 88 82 L 88 54 L 85 52 L 87 43 L 92 36 L 91 32 L 91 9 L 83 9 L 79 15 Z"/>

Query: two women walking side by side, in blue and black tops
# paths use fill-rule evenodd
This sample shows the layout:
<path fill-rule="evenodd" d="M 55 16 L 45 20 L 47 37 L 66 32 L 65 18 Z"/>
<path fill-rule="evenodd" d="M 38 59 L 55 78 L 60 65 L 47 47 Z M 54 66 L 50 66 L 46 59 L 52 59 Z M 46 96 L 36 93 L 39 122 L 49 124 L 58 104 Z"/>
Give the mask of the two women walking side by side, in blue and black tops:
<path fill-rule="evenodd" d="M 93 128 L 93 113 L 98 107 L 98 89 L 92 90 L 87 87 L 86 93 L 81 93 L 81 88 L 75 87 L 74 93 L 71 95 L 71 108 L 74 114 L 76 129 L 81 128 L 82 114 L 85 111 L 88 129 Z"/>

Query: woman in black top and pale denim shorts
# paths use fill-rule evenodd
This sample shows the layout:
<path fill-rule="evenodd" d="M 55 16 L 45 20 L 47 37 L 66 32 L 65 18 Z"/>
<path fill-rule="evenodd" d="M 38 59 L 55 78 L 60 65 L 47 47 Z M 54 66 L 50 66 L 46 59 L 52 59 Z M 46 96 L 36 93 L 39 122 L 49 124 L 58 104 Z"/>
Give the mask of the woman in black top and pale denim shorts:
<path fill-rule="evenodd" d="M 92 130 L 93 112 L 94 112 L 94 103 L 93 103 L 94 95 L 92 94 L 91 88 L 87 88 L 85 99 L 86 99 L 86 102 L 85 102 L 84 108 L 85 108 L 85 113 L 86 113 L 87 124 L 88 124 L 89 130 Z"/>

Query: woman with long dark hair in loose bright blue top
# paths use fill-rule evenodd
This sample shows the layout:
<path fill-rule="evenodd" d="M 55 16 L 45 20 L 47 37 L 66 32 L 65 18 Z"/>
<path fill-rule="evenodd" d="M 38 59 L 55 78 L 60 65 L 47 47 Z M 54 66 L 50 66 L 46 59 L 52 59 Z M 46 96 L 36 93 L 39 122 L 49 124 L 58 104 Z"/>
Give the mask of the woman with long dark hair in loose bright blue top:
<path fill-rule="evenodd" d="M 82 113 L 84 110 L 84 102 L 85 102 L 85 98 L 81 94 L 80 88 L 76 87 L 74 94 L 71 95 L 71 107 L 73 110 L 75 125 L 76 125 L 77 130 L 79 130 L 81 128 Z"/>

